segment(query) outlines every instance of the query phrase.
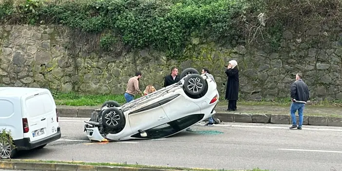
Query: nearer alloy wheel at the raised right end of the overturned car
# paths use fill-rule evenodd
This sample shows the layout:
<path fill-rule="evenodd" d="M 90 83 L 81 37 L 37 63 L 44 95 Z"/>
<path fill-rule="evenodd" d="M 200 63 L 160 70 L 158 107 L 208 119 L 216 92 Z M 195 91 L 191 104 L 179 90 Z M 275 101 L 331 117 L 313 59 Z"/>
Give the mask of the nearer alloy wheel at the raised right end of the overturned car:
<path fill-rule="evenodd" d="M 190 74 L 184 80 L 184 91 L 189 95 L 201 95 L 207 84 L 202 76 L 198 74 Z"/>

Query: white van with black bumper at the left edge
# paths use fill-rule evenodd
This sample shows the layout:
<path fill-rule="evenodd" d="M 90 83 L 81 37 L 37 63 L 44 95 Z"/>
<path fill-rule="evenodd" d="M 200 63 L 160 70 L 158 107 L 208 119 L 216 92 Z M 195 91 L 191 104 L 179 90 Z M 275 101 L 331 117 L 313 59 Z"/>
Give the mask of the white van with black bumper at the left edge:
<path fill-rule="evenodd" d="M 59 139 L 58 113 L 51 92 L 43 88 L 0 87 L 0 133 L 3 129 L 11 131 L 15 149 L 6 148 L 8 141 L 0 142 L 1 158 L 8 158 L 10 151 L 12 158 L 17 151 L 43 148 Z"/>

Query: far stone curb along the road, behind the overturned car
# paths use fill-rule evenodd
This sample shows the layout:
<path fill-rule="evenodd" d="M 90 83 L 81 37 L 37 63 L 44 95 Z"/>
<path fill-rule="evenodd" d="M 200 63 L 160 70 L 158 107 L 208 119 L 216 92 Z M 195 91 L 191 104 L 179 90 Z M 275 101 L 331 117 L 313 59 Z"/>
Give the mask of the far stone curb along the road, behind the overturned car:
<path fill-rule="evenodd" d="M 97 106 L 57 106 L 57 111 L 59 116 L 62 117 L 91 117 L 91 114 L 97 108 Z M 292 124 L 290 114 L 243 114 L 217 112 L 215 115 L 223 122 Z M 296 117 L 298 124 L 298 115 Z M 342 117 L 304 115 L 303 125 L 342 127 Z"/>

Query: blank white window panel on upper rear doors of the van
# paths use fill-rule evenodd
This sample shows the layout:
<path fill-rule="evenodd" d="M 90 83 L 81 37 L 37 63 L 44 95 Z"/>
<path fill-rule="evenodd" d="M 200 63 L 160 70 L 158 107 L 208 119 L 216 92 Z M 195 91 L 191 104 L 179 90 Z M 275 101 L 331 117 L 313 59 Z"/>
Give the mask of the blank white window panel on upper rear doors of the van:
<path fill-rule="evenodd" d="M 32 96 L 26 99 L 25 111 L 30 117 L 53 112 L 53 101 L 49 94 Z"/>

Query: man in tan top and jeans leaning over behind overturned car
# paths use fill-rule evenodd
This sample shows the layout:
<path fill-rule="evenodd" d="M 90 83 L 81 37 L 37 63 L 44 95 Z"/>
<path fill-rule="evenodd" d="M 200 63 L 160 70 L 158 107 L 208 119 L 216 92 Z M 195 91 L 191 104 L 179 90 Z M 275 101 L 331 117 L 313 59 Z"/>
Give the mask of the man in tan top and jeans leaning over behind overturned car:
<path fill-rule="evenodd" d="M 139 78 L 140 77 L 141 77 L 141 72 L 138 71 L 135 73 L 135 76 L 133 76 L 132 78 L 130 78 L 128 80 L 127 89 L 126 89 L 126 92 L 124 95 L 127 103 L 134 100 L 134 96 L 137 93 L 142 95 L 142 93 L 139 89 Z"/>

